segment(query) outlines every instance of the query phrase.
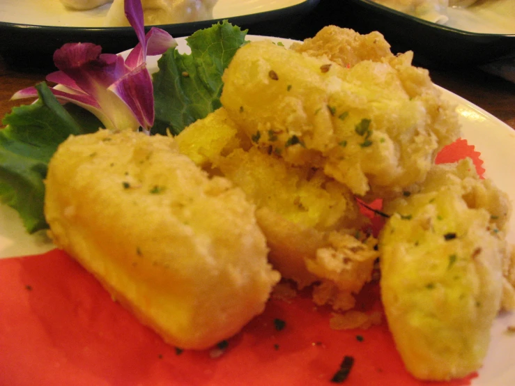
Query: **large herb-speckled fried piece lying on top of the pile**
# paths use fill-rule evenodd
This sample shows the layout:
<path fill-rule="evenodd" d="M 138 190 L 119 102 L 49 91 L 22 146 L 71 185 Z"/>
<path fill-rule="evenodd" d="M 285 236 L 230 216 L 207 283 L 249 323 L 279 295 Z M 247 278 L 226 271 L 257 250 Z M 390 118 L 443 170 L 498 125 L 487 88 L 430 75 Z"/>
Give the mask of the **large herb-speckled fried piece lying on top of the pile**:
<path fill-rule="evenodd" d="M 454 107 L 406 53 L 342 68 L 262 41 L 223 75 L 222 105 L 263 150 L 323 168 L 354 194 L 398 195 L 459 135 Z"/>

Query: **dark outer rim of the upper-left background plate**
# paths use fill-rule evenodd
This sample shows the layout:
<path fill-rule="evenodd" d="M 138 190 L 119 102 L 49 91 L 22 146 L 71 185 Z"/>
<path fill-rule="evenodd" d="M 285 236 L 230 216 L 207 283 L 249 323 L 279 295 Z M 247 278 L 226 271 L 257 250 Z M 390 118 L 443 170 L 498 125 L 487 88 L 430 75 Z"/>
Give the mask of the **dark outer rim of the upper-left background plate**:
<path fill-rule="evenodd" d="M 171 36 L 189 36 L 194 31 L 229 20 L 249 29 L 249 33 L 287 38 L 292 30 L 321 0 L 306 0 L 294 6 L 267 12 L 224 17 L 223 19 L 160 25 Z M 17 68 L 53 67 L 52 54 L 65 43 L 91 42 L 102 46 L 102 52 L 118 53 L 137 44 L 130 27 L 43 26 L 0 22 L 0 56 Z"/>

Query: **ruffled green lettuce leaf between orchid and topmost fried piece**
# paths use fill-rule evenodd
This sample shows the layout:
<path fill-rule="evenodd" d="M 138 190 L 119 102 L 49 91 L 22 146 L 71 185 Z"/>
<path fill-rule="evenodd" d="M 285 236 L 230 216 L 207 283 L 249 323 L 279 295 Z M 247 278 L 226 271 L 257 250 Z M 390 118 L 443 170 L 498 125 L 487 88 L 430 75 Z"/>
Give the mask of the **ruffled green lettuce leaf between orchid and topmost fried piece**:
<path fill-rule="evenodd" d="M 157 62 L 153 76 L 155 122 L 153 134 L 178 134 L 187 125 L 221 107 L 222 74 L 245 43 L 247 31 L 227 21 L 187 38 L 191 54 L 169 49 Z"/>

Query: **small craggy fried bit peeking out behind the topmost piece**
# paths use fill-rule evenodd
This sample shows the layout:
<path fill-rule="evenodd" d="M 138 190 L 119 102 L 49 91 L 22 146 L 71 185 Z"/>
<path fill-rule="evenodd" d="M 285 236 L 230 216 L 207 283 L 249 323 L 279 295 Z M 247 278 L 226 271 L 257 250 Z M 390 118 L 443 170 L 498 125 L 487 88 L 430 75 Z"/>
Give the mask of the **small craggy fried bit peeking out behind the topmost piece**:
<path fill-rule="evenodd" d="M 325 26 L 313 38 L 308 38 L 303 43 L 293 43 L 291 49 L 305 52 L 309 56 L 327 58 L 348 68 L 360 61 L 380 62 L 383 58 L 393 57 L 390 44 L 378 31 L 362 35 L 338 26 Z"/>

